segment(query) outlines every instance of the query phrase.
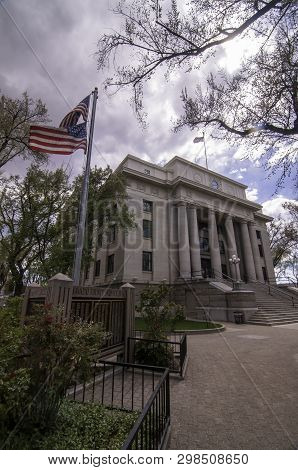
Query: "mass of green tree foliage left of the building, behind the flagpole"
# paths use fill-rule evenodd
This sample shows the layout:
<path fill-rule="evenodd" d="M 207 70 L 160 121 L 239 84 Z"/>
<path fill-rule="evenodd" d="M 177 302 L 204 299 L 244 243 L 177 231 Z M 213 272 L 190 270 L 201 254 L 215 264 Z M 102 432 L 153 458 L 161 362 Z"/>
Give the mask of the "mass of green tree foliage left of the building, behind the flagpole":
<path fill-rule="evenodd" d="M 2 178 L 0 190 L 0 287 L 10 274 L 15 295 L 26 282 L 46 281 L 57 272 L 71 275 L 82 175 L 32 165 L 24 179 Z M 128 229 L 133 216 L 125 204 L 125 183 L 110 168 L 90 173 L 83 264 L 92 260 L 97 230 Z"/>

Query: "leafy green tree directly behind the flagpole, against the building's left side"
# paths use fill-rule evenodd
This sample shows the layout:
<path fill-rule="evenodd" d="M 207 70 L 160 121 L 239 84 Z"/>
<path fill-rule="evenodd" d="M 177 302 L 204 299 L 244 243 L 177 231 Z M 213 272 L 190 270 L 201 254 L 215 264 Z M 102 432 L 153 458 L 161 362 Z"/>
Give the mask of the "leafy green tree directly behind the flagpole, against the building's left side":
<path fill-rule="evenodd" d="M 49 250 L 49 256 L 39 273 L 47 279 L 57 272 L 72 275 L 78 209 L 82 175 L 73 181 L 70 195 L 59 215 L 60 236 Z M 126 205 L 125 179 L 111 168 L 93 168 L 90 172 L 85 243 L 82 266 L 87 269 L 93 260 L 99 237 L 111 227 L 128 230 L 134 227 L 134 217 Z"/>

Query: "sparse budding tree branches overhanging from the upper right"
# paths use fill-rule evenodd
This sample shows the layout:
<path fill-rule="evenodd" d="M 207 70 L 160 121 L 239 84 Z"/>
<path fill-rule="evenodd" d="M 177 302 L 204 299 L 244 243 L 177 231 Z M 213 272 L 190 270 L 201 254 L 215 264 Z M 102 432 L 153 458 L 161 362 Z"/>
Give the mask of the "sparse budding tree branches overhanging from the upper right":
<path fill-rule="evenodd" d="M 172 0 L 121 1 L 115 13 L 123 18 L 120 32 L 105 34 L 98 44 L 98 68 L 113 59 L 114 77 L 106 87 L 132 87 L 133 103 L 142 120 L 143 87 L 158 68 L 169 78 L 173 70 L 199 69 L 219 46 L 239 38 L 259 48 L 232 76 L 217 68 L 198 85 L 195 96 L 182 93 L 184 115 L 176 130 L 208 126 L 213 136 L 241 141 L 256 150 L 276 171 L 280 183 L 289 175 L 297 155 L 297 19 L 295 0 Z M 117 53 L 128 48 L 128 65 Z M 213 67 L 215 65 L 213 64 Z"/>

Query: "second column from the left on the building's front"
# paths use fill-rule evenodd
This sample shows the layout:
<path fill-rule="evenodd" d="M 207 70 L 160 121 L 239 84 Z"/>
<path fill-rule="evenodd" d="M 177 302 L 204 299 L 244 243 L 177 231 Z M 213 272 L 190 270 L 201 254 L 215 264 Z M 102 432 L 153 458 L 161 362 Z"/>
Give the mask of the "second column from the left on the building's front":
<path fill-rule="evenodd" d="M 199 237 L 199 229 L 198 229 L 197 209 L 195 206 L 190 206 L 188 209 L 188 230 L 189 230 L 192 277 L 201 279 L 202 278 L 202 265 L 201 265 L 200 237 Z"/>

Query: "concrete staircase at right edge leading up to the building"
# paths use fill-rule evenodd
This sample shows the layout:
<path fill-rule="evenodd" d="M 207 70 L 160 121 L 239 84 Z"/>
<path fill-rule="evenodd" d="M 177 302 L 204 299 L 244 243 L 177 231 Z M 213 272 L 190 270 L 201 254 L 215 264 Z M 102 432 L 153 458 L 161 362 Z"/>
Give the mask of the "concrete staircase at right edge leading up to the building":
<path fill-rule="evenodd" d="M 247 323 L 254 325 L 286 325 L 288 323 L 298 323 L 298 301 L 291 296 L 273 288 L 271 294 L 268 292 L 268 286 L 262 284 L 250 283 L 247 287 L 254 290 L 258 311 L 254 313 Z"/>

